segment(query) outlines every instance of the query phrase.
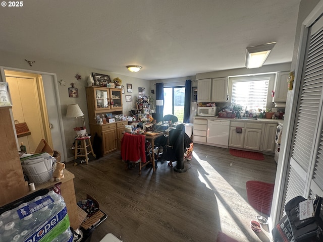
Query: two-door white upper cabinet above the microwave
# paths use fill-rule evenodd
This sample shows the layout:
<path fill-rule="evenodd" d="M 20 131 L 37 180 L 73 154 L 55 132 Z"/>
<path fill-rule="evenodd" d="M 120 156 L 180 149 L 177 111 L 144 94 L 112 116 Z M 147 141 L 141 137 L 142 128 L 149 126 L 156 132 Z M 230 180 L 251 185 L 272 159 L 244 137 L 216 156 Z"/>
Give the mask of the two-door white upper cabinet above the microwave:
<path fill-rule="evenodd" d="M 197 102 L 227 102 L 228 78 L 198 80 Z"/>

